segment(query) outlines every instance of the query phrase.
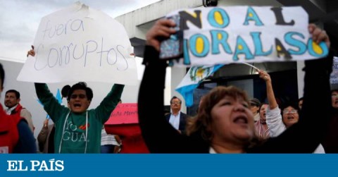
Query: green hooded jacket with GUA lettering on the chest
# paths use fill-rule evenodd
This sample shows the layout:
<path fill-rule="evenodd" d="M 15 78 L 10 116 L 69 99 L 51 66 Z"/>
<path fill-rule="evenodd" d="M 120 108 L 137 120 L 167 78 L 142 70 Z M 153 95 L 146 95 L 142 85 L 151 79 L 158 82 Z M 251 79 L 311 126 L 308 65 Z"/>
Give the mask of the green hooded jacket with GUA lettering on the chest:
<path fill-rule="evenodd" d="M 44 83 L 35 83 L 35 91 L 44 110 L 55 123 L 54 149 L 56 153 L 100 153 L 101 129 L 118 104 L 124 85 L 115 84 L 96 109 L 75 114 L 58 103 Z M 67 115 L 69 114 L 68 118 Z M 86 126 L 86 114 L 88 126 Z M 67 118 L 67 122 L 65 120 Z M 88 127 L 87 133 L 86 128 Z M 86 136 L 87 134 L 87 136 Z M 87 138 L 86 138 L 87 137 Z M 62 141 L 61 141 L 62 139 Z M 87 142 L 86 142 L 87 139 Z M 60 148 L 61 146 L 61 148 Z"/>

